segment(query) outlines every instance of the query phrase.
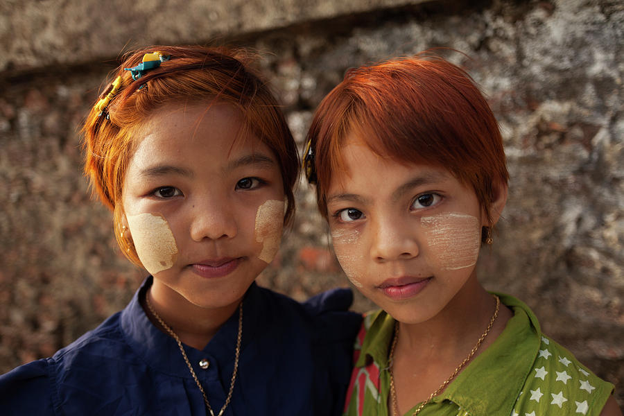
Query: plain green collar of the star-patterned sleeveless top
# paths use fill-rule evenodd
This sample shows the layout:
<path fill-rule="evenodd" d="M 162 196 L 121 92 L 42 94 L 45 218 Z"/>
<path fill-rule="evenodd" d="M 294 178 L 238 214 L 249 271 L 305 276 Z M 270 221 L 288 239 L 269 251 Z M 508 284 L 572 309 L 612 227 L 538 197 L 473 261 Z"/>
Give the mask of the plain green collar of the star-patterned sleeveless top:
<path fill-rule="evenodd" d="M 471 416 L 512 413 L 539 352 L 542 333 L 537 318 L 526 304 L 510 295 L 496 295 L 514 315 L 499 338 L 476 356 L 432 402 L 453 401 Z M 384 311 L 370 315 L 370 320 L 368 333 L 371 336 L 363 342 L 356 367 L 374 360 L 383 369 L 388 367 L 395 320 Z"/>

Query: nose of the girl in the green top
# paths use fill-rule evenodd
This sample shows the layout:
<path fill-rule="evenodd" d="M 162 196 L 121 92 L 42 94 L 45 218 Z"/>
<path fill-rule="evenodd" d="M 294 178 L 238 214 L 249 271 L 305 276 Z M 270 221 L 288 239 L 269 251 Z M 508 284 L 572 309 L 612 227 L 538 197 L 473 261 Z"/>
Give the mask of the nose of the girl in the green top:
<path fill-rule="evenodd" d="M 375 261 L 407 260 L 417 257 L 417 230 L 396 218 L 381 218 L 373 224 L 371 257 Z"/>

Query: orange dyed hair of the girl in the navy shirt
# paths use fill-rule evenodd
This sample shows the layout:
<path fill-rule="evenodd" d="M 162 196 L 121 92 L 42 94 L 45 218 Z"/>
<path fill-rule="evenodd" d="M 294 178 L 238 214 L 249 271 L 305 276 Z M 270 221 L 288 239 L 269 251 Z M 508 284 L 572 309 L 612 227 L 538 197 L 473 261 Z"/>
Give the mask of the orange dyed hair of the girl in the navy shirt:
<path fill-rule="evenodd" d="M 124 68 L 141 63 L 145 53 L 171 55 L 137 80 Z M 253 133 L 279 162 L 288 209 L 284 223 L 295 211 L 293 188 L 299 175 L 299 157 L 291 130 L 275 96 L 252 65 L 257 56 L 244 49 L 205 46 L 150 46 L 125 55 L 112 78 L 121 76 L 119 92 L 105 114 L 94 106 L 83 127 L 85 173 L 94 193 L 114 211 L 115 236 L 123 253 L 140 265 L 132 241 L 121 230 L 121 193 L 125 171 L 137 148 L 137 133 L 155 110 L 171 103 L 180 105 L 214 102 L 233 105 L 244 123 L 241 137 Z M 106 84 L 109 85 L 109 84 Z M 139 89 L 141 86 L 145 86 Z M 105 95 L 107 91 L 104 90 Z"/>

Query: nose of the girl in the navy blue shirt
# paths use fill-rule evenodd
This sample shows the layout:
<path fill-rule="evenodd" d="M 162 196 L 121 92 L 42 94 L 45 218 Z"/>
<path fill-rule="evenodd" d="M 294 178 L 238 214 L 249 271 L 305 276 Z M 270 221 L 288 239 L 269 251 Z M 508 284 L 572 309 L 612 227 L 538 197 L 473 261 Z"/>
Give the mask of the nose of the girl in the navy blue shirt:
<path fill-rule="evenodd" d="M 227 201 L 201 198 L 191 207 L 191 239 L 232 239 L 238 232 L 236 214 Z"/>

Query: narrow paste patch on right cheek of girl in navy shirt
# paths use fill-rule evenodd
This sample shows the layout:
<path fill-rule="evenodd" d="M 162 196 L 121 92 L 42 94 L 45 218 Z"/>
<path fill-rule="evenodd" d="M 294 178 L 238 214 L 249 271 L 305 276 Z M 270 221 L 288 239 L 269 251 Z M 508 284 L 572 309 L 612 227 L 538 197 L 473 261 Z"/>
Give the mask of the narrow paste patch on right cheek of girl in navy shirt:
<path fill-rule="evenodd" d="M 281 243 L 281 229 L 284 227 L 284 209 L 286 202 L 280 200 L 267 200 L 258 207 L 256 212 L 256 226 L 254 235 L 256 241 L 262 244 L 262 250 L 258 258 L 265 263 L 270 263 Z"/>

